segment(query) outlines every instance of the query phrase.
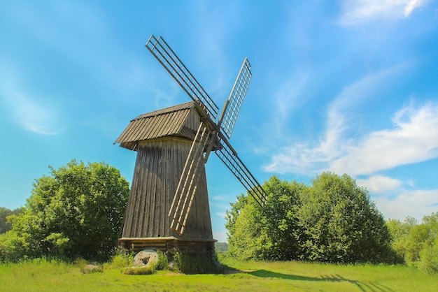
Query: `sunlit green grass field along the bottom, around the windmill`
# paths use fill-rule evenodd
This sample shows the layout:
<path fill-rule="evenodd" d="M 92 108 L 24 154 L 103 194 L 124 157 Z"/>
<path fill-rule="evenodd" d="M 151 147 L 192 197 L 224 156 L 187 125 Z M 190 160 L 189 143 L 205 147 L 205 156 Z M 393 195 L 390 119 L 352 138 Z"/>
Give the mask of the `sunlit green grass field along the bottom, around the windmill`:
<path fill-rule="evenodd" d="M 438 291 L 438 275 L 404 265 L 222 263 L 234 273 L 124 275 L 104 265 L 104 272 L 83 274 L 78 265 L 55 261 L 0 264 L 0 291 Z"/>

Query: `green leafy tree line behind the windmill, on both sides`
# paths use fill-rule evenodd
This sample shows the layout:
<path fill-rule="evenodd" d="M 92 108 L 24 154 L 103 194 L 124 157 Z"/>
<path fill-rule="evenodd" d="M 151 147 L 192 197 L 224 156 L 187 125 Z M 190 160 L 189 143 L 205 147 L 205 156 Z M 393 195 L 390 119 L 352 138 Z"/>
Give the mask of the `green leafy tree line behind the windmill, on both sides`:
<path fill-rule="evenodd" d="M 274 176 L 260 207 L 241 194 L 226 212 L 229 256 L 242 260 L 407 263 L 438 272 L 438 212 L 421 224 L 385 220 L 348 175 L 310 185 Z M 35 180 L 24 207 L 0 207 L 0 262 L 41 256 L 108 259 L 118 244 L 129 183 L 106 163 L 72 160 Z"/>

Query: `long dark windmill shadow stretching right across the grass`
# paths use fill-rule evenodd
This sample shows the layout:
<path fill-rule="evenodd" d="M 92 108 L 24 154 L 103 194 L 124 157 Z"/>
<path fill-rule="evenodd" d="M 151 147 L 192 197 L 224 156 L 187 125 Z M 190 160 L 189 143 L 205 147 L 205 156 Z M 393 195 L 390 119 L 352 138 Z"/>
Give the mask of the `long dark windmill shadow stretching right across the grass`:
<path fill-rule="evenodd" d="M 239 270 L 235 270 L 235 272 L 239 272 Z M 253 275 L 255 277 L 261 277 L 261 278 L 276 278 L 276 279 L 307 281 L 307 282 L 348 282 L 355 286 L 358 286 L 358 288 L 361 291 L 393 291 L 392 289 L 383 286 L 381 284 L 365 283 L 351 279 L 346 279 L 344 277 L 341 277 L 341 275 L 330 275 L 330 276 L 327 275 L 323 277 L 306 277 L 299 275 L 288 275 L 288 274 L 283 274 L 281 272 L 272 272 L 269 270 L 255 270 L 248 272 L 240 271 L 240 272 L 246 272 L 249 275 Z"/>

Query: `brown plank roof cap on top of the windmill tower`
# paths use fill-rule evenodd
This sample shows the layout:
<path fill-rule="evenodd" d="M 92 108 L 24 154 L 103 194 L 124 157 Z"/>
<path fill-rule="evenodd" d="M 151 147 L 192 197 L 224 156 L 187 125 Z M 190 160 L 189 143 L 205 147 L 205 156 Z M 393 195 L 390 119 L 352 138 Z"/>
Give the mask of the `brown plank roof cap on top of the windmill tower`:
<path fill-rule="evenodd" d="M 193 101 L 140 115 L 115 140 L 121 147 L 136 150 L 139 141 L 175 136 L 193 140 L 199 114 Z"/>

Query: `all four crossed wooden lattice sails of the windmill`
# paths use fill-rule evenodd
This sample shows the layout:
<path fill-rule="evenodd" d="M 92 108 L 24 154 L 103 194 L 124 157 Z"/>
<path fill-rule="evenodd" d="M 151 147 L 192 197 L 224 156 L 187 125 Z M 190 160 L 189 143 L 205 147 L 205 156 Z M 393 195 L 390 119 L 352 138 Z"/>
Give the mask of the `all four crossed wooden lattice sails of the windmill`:
<path fill-rule="evenodd" d="M 188 96 L 195 101 L 195 106 L 201 116 L 199 129 L 185 161 L 183 173 L 181 174 L 174 200 L 169 210 L 168 216 L 171 217 L 171 229 L 179 235 L 183 234 L 190 207 L 197 190 L 200 176 L 199 169 L 201 168 L 199 167 L 200 163 L 206 163 L 213 147 L 215 147 L 214 151 L 219 158 L 248 190 L 249 194 L 255 198 L 257 203 L 261 206 L 265 205 L 267 200 L 266 193 L 239 159 L 227 140 L 227 138 L 231 137 L 237 115 L 239 115 L 243 98 L 245 98 L 252 77 L 248 59 L 245 58 L 243 60 L 232 91 L 218 118 L 218 106 L 161 36 L 158 38 L 155 38 L 153 35 L 150 36 L 146 43 L 146 48 L 160 61 L 162 66 L 178 82 Z M 218 120 L 217 124 L 216 120 Z"/>

